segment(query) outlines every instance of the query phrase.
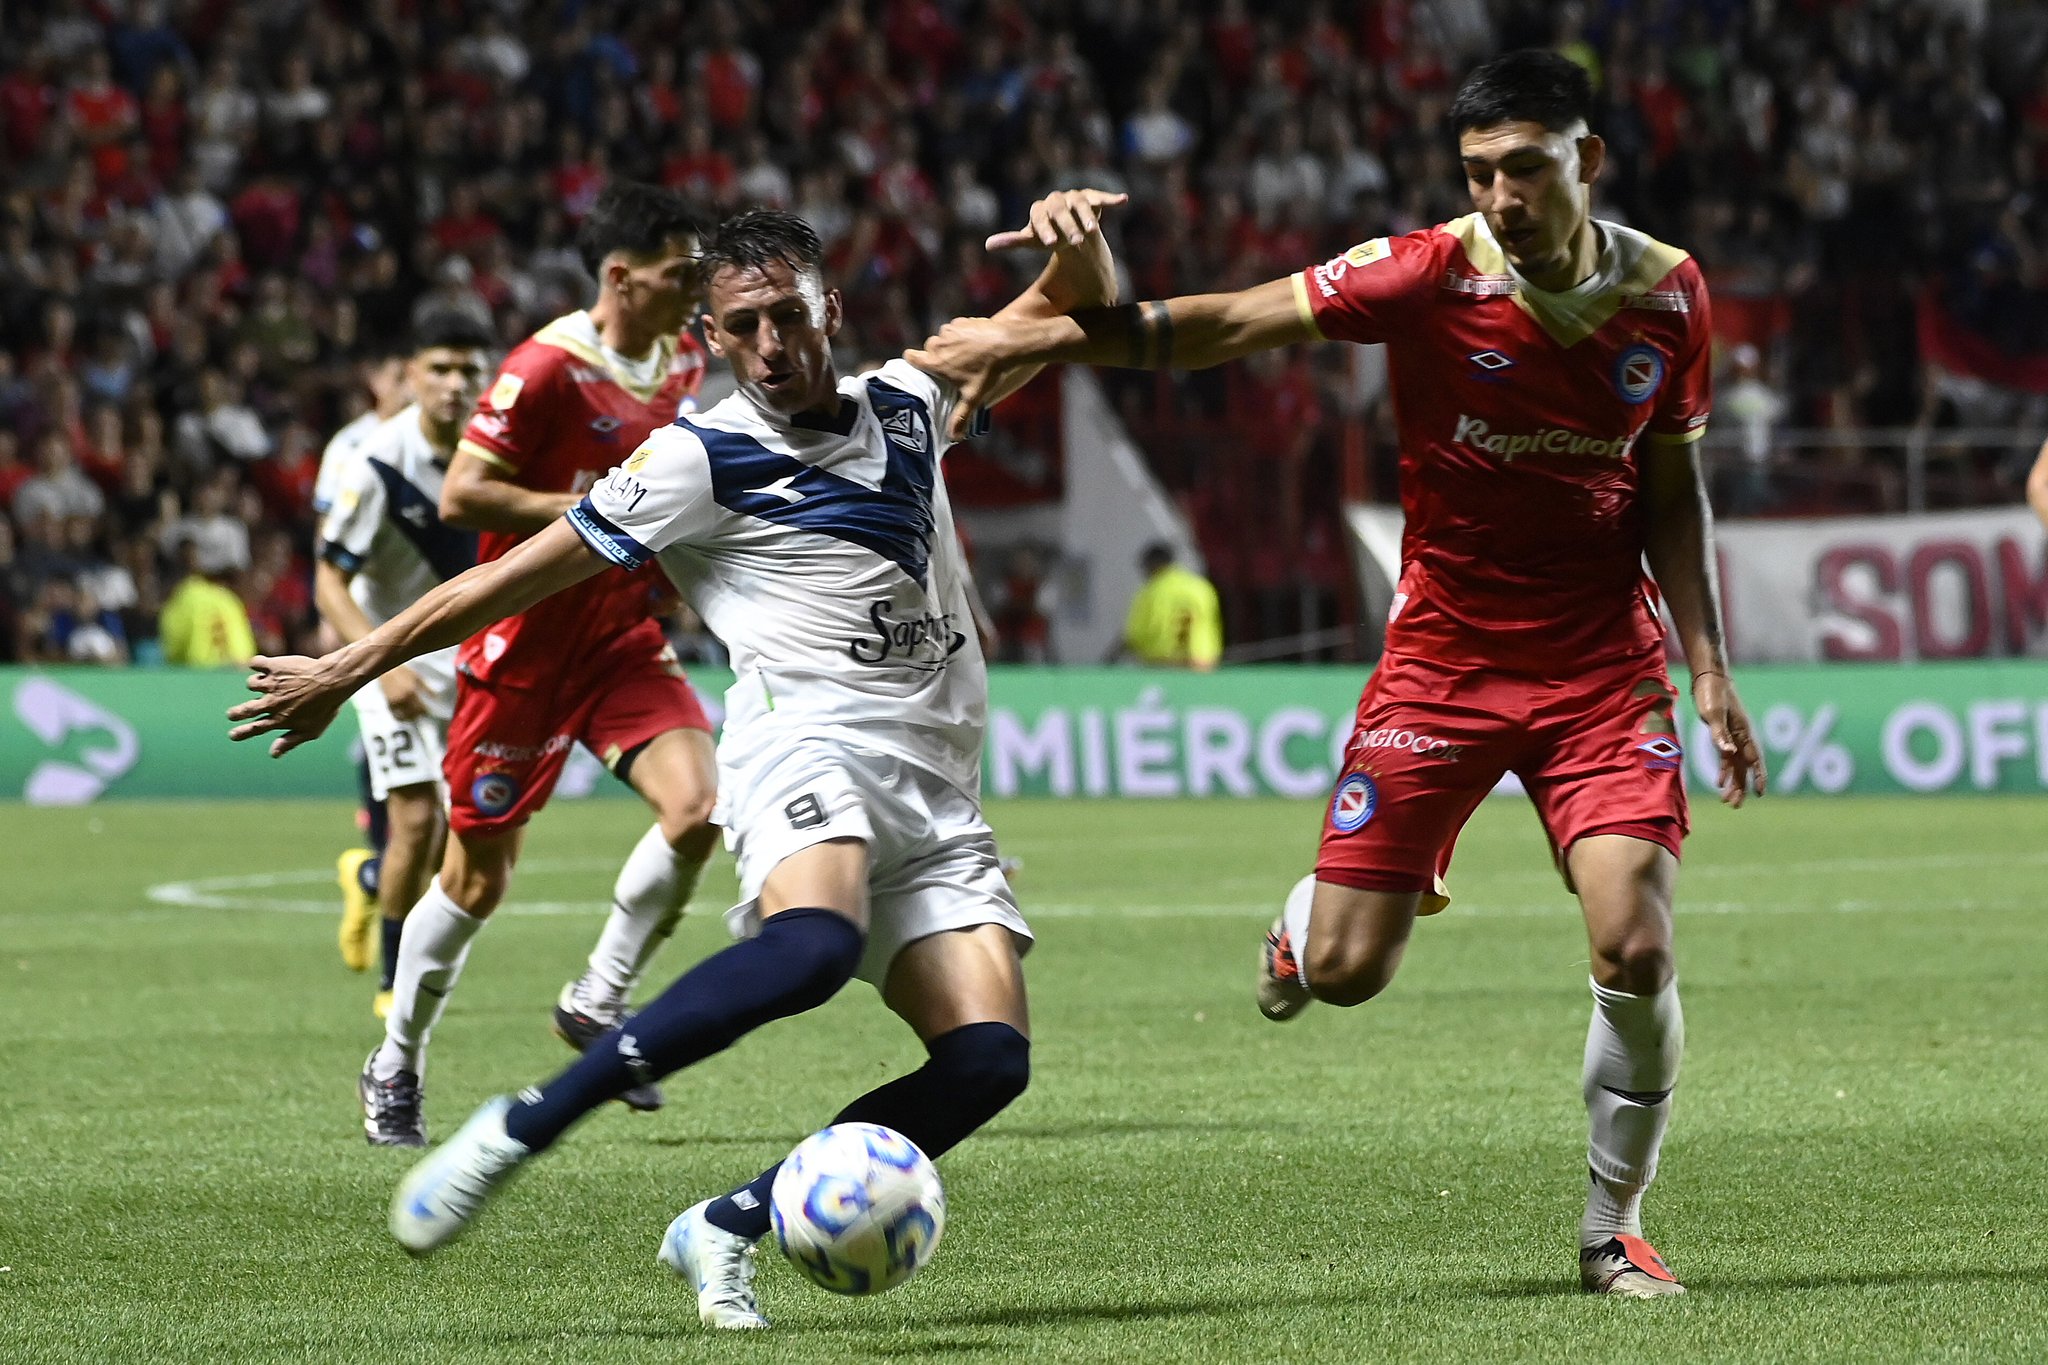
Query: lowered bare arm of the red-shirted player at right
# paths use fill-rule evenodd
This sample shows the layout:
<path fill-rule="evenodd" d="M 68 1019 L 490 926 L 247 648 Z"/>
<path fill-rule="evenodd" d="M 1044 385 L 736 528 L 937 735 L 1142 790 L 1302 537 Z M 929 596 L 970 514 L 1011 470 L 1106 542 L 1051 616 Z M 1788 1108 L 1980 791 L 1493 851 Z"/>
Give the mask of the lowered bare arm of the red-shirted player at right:
<path fill-rule="evenodd" d="M 1706 483 L 1694 444 L 1645 444 L 1642 495 L 1649 510 L 1647 559 L 1657 589 L 1671 604 L 1686 667 L 1692 669 L 1692 704 L 1720 751 L 1720 798 L 1741 806 L 1749 792 L 1763 794 L 1767 774 L 1749 712 L 1729 677 L 1729 651 L 1720 630 L 1720 585 L 1714 575 L 1714 528 Z"/>

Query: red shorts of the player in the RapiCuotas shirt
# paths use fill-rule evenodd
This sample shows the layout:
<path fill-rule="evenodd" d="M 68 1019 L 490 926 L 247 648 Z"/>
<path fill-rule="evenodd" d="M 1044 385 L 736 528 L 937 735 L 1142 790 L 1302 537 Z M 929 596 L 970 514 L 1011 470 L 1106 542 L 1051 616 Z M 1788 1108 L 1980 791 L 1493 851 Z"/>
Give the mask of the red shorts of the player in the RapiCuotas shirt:
<path fill-rule="evenodd" d="M 1509 772 L 1561 868 L 1595 833 L 1675 855 L 1690 827 L 1675 700 L 1659 657 L 1550 679 L 1389 655 L 1358 700 L 1315 876 L 1440 896 L 1458 831 Z"/>

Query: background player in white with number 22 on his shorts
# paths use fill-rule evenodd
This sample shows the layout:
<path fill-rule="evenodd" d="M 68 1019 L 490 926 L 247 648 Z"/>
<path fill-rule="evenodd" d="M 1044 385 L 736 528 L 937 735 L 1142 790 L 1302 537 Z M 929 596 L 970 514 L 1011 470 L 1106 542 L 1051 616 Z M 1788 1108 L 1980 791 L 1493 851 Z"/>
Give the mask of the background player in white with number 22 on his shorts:
<path fill-rule="evenodd" d="M 379 426 L 334 483 L 319 528 L 313 598 L 322 620 L 354 643 L 477 563 L 475 532 L 444 526 L 440 479 L 469 409 L 489 375 L 492 336 L 463 313 L 432 313 L 414 336 L 406 377 L 418 401 Z M 455 714 L 455 651 L 438 649 L 395 667 L 352 698 L 371 767 L 371 796 L 389 819 L 377 909 L 383 958 L 397 962 L 397 939 L 426 880 L 440 862 L 446 792 L 440 757 Z M 387 980 L 387 1029 L 414 1013 L 420 982 Z M 375 1054 L 373 1054 L 375 1060 Z M 406 1068 L 358 1083 L 362 1128 L 379 1146 L 426 1146 L 420 1078 Z"/>

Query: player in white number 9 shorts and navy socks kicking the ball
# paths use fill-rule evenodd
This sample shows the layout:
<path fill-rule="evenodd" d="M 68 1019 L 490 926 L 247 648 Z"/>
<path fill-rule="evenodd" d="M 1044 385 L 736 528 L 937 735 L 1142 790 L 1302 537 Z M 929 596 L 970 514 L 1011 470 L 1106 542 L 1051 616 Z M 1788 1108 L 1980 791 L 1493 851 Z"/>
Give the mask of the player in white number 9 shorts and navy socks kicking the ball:
<path fill-rule="evenodd" d="M 1098 211 L 1063 190 L 991 248 L 1053 262 L 1001 317 L 1051 317 L 1116 295 Z M 829 999 L 852 976 L 915 1029 L 926 1064 L 836 1121 L 895 1128 L 940 1154 L 1030 1074 L 1022 952 L 1030 929 L 981 819 L 987 671 L 938 463 L 958 393 L 903 362 L 838 377 L 840 295 L 803 219 L 752 211 L 705 254 L 705 334 L 739 391 L 657 430 L 561 522 L 428 593 L 324 659 L 256 659 L 236 739 L 285 753 L 340 698 L 608 565 L 659 559 L 725 641 L 737 673 L 719 745 L 721 823 L 739 860 L 743 935 L 678 978 L 582 1060 L 485 1103 L 391 1203 L 414 1252 L 444 1244 L 528 1156 L 631 1085 Z M 1016 370 L 989 403 L 1034 370 Z M 721 1328 L 766 1326 L 754 1244 L 774 1171 L 680 1214 L 662 1261 Z"/>

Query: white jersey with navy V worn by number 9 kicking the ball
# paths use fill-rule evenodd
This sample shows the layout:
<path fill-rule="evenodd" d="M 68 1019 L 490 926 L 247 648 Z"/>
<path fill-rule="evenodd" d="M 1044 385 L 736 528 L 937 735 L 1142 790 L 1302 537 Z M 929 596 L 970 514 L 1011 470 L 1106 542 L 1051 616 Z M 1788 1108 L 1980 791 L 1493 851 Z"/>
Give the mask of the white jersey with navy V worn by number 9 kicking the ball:
<path fill-rule="evenodd" d="M 844 731 L 979 792 L 987 669 L 940 477 L 956 389 L 905 360 L 840 379 L 836 420 L 735 393 L 653 432 L 569 510 L 664 571 L 733 655 L 719 759 Z"/>

